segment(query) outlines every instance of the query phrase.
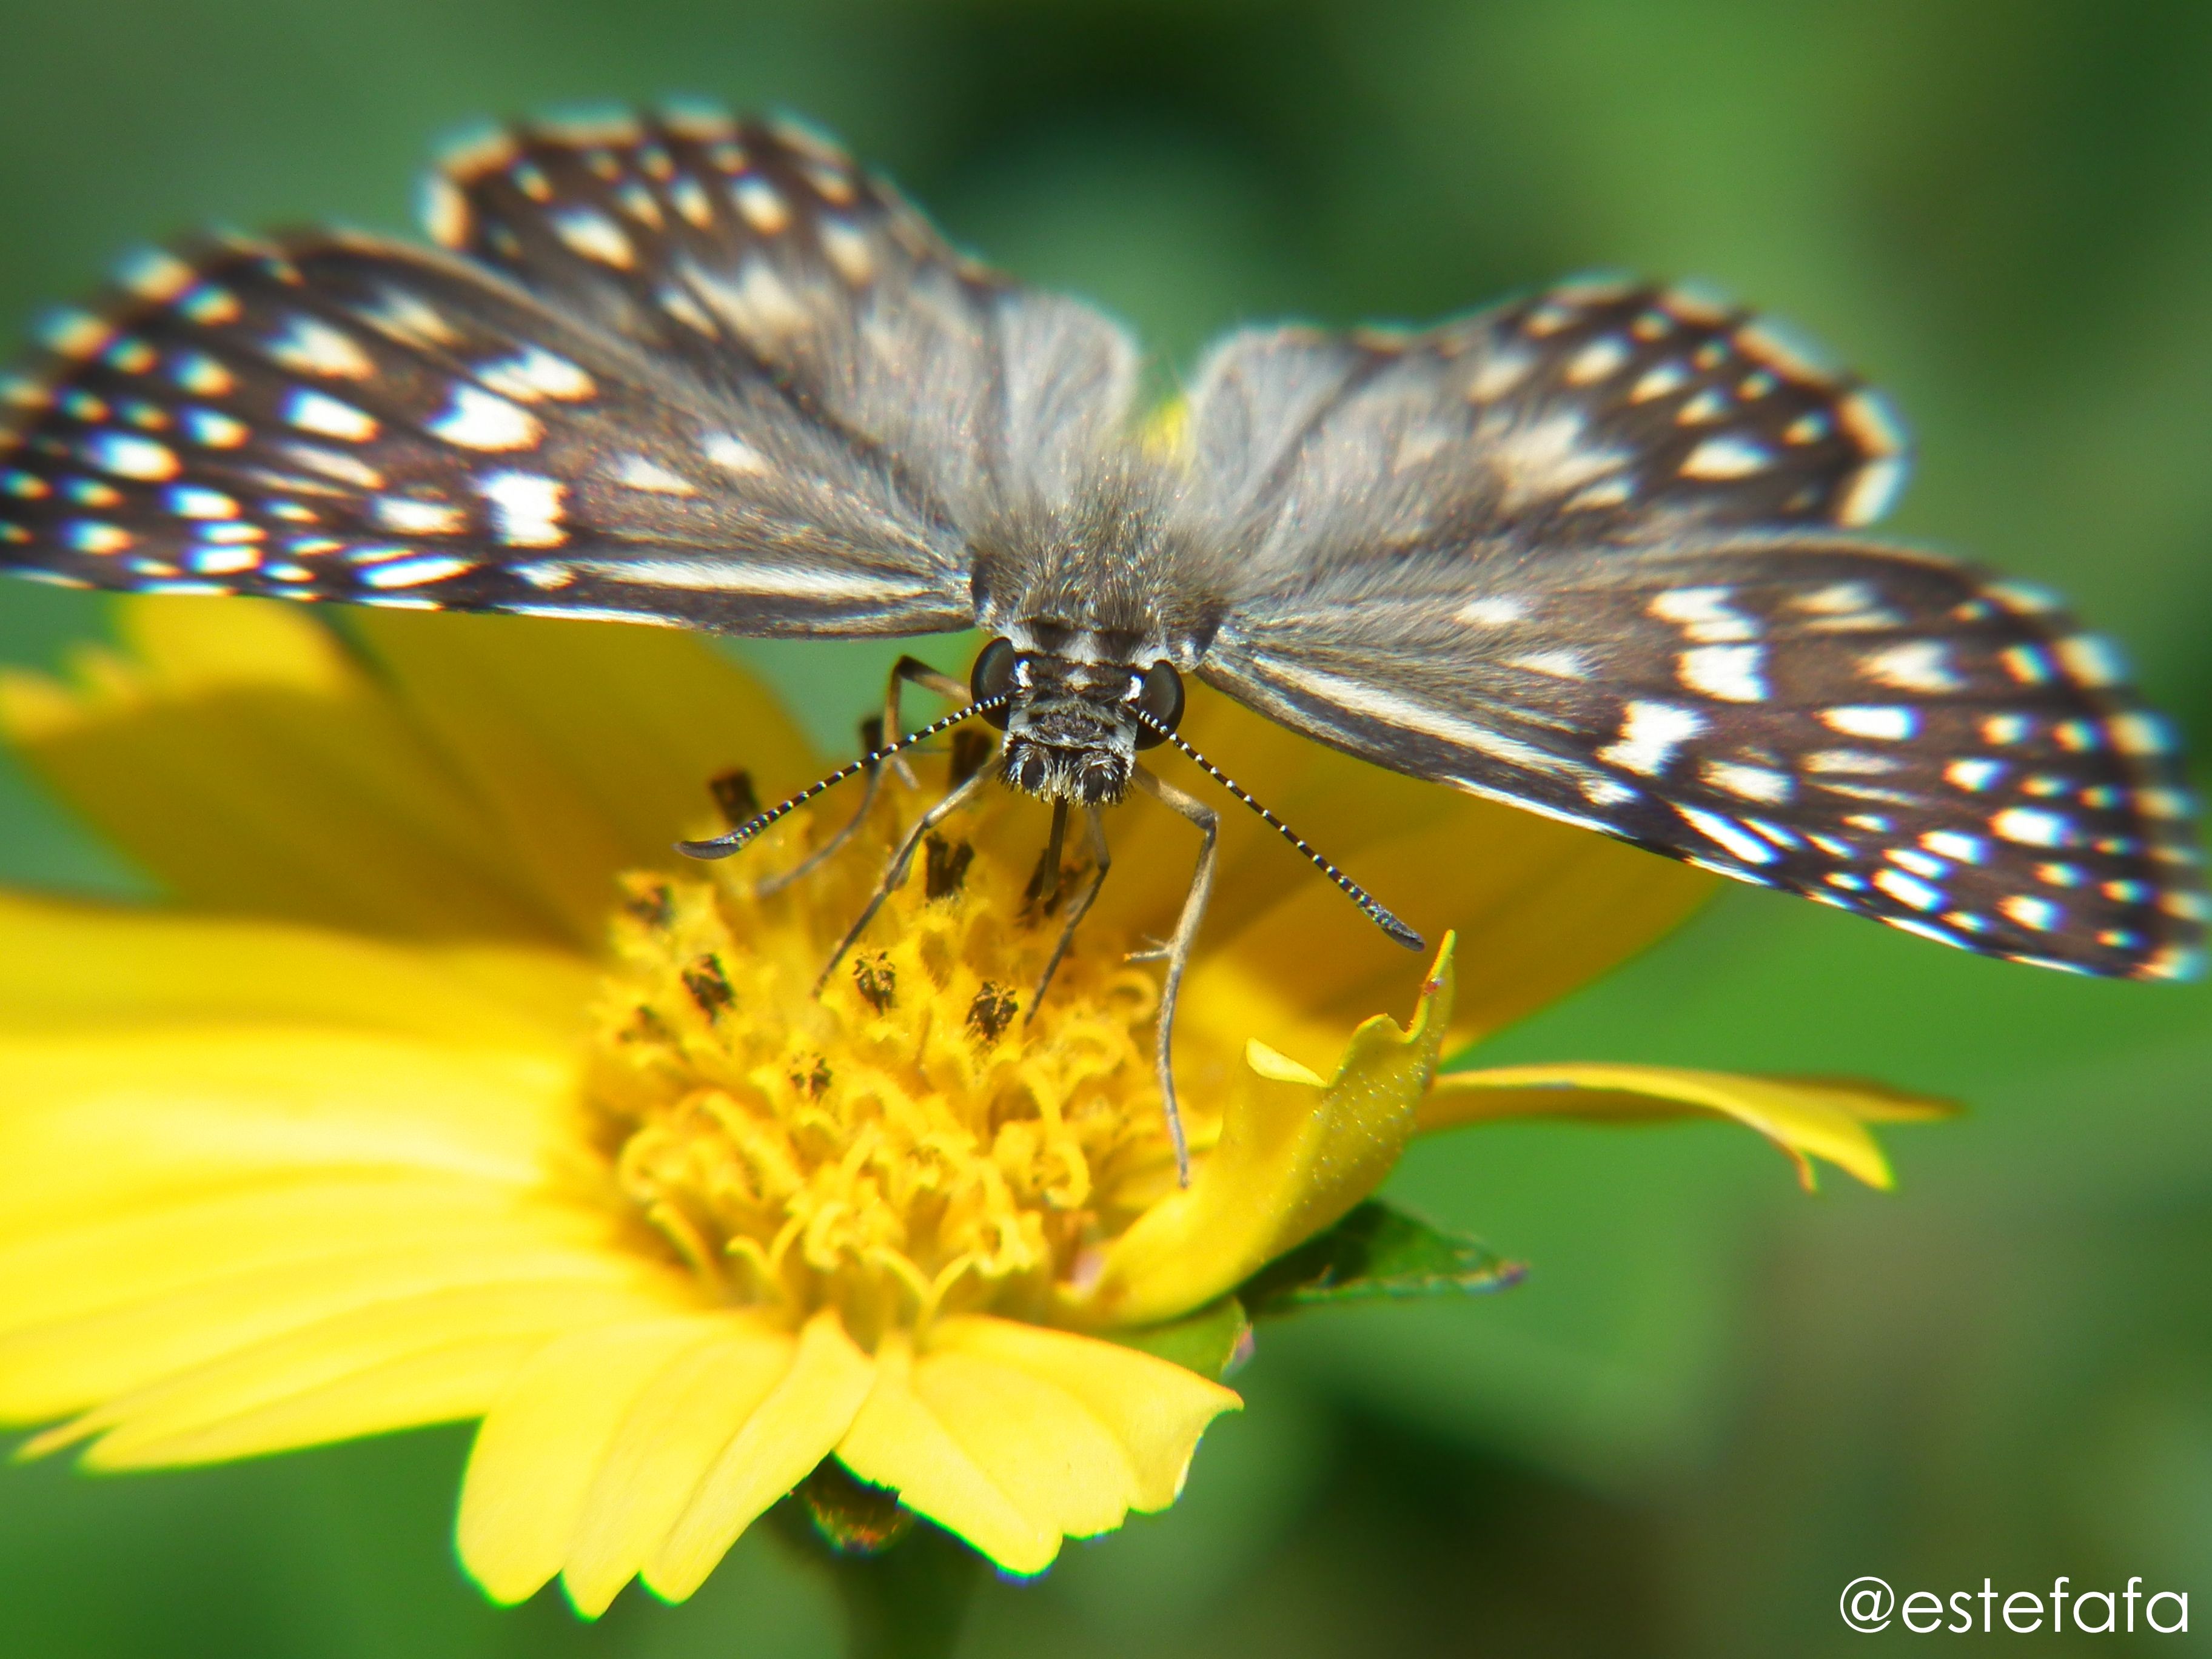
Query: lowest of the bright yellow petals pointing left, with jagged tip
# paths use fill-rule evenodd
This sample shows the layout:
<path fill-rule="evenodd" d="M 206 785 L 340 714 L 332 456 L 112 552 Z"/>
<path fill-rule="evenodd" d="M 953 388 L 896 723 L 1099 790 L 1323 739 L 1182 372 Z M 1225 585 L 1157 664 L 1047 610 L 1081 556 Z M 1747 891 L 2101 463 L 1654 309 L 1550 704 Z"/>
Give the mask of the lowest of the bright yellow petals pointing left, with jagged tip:
<path fill-rule="evenodd" d="M 650 1312 L 664 1310 L 604 1276 L 380 1301 L 113 1398 L 38 1436 L 24 1453 L 100 1433 L 86 1464 L 148 1469 L 469 1418 L 487 1411 L 522 1363 L 555 1336 Z"/>

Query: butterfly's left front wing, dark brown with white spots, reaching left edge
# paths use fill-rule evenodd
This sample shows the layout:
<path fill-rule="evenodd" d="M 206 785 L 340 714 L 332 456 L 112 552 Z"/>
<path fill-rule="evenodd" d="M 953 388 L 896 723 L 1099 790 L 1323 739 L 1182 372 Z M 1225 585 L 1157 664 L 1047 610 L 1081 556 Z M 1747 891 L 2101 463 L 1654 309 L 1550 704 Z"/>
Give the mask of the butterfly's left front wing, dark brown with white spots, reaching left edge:
<path fill-rule="evenodd" d="M 0 564 L 737 633 L 967 626 L 964 538 L 765 378 L 352 234 L 135 261 L 7 383 Z"/>

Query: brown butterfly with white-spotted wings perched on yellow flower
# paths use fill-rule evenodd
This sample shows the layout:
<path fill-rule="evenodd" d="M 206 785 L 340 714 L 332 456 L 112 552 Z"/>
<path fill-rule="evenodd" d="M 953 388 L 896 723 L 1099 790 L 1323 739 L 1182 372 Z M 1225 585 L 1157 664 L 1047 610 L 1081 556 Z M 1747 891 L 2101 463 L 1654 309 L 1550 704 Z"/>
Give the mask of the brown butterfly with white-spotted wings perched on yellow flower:
<path fill-rule="evenodd" d="M 1117 323 L 960 254 L 803 124 L 484 128 L 425 221 L 438 252 L 148 252 L 49 321 L 0 387 L 0 566 L 732 635 L 982 628 L 967 686 L 894 677 L 887 737 L 907 681 L 969 699 L 916 737 L 1002 739 L 883 891 L 993 776 L 1053 803 L 1053 872 L 1084 816 L 1071 929 L 1099 807 L 1137 787 L 1188 816 L 1170 1119 L 1214 812 L 1139 754 L 1188 750 L 1183 677 L 1944 945 L 2201 971 L 2168 726 L 2053 595 L 1867 540 L 1905 482 L 1896 418 L 1734 305 L 1573 281 L 1431 330 L 1245 327 L 1148 429 Z"/>

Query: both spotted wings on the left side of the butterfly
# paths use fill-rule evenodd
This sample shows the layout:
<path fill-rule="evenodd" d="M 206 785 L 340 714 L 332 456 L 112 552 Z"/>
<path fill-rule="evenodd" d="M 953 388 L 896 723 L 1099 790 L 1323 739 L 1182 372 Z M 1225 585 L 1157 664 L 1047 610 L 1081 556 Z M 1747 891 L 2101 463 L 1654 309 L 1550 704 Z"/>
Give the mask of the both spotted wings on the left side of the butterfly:
<path fill-rule="evenodd" d="M 1121 418 L 1126 341 L 962 265 L 814 139 L 624 133 L 619 157 L 564 126 L 449 161 L 431 223 L 482 261 L 325 232 L 135 261 L 4 387 L 0 566 L 754 635 L 971 626 L 975 524 Z"/>

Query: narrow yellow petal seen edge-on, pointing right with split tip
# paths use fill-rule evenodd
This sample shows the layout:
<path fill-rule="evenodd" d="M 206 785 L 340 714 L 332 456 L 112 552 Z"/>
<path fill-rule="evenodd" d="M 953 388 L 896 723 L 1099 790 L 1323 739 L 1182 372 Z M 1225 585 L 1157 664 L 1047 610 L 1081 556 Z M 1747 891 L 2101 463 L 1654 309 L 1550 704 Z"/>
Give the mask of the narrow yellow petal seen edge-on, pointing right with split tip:
<path fill-rule="evenodd" d="M 1827 1077 L 1739 1077 L 1674 1066 L 1500 1066 L 1438 1077 L 1420 1108 L 1420 1133 L 1502 1117 L 1663 1119 L 1712 1113 L 1774 1141 L 1796 1164 L 1807 1190 L 1816 1157 L 1867 1186 L 1887 1188 L 1889 1159 L 1865 1124 L 1953 1110 L 1949 1102 Z"/>

